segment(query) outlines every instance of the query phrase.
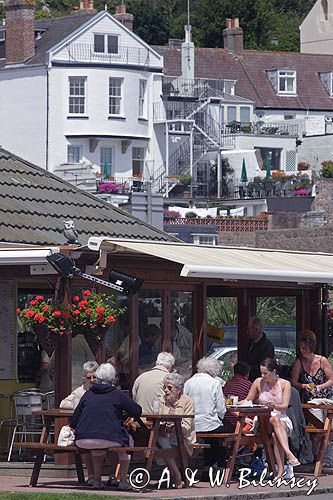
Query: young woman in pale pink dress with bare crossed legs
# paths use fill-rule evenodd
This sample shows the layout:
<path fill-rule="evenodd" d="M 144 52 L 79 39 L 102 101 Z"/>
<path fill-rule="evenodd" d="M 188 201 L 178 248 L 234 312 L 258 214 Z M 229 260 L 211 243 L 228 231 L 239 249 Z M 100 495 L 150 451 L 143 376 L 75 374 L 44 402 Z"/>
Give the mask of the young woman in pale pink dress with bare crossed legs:
<path fill-rule="evenodd" d="M 259 401 L 259 404 L 271 409 L 269 419 L 272 431 L 275 460 L 278 465 L 277 477 L 284 472 L 284 457 L 288 464 L 296 467 L 300 462 L 292 454 L 288 444 L 288 436 L 293 430 L 292 422 L 286 415 L 290 401 L 291 385 L 288 380 L 280 379 L 277 374 L 278 365 L 275 359 L 266 358 L 260 363 L 261 377 L 257 378 L 246 399 Z"/>

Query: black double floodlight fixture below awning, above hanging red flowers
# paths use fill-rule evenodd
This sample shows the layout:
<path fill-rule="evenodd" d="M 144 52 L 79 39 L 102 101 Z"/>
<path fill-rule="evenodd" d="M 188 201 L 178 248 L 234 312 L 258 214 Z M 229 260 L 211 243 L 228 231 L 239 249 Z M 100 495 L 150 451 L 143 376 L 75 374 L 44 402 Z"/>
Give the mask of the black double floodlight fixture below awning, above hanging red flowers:
<path fill-rule="evenodd" d="M 81 271 L 78 267 L 74 266 L 72 259 L 62 255 L 61 253 L 53 253 L 46 257 L 46 260 L 51 264 L 52 267 L 64 278 L 73 278 L 73 276 L 81 276 L 89 281 L 98 283 L 99 285 L 106 286 L 107 288 L 113 288 L 118 292 L 128 292 L 136 293 L 143 284 L 143 279 L 133 278 L 127 274 L 119 273 L 117 271 L 111 271 L 110 281 L 102 280 L 96 276 L 91 276 L 91 274 L 86 274 Z"/>

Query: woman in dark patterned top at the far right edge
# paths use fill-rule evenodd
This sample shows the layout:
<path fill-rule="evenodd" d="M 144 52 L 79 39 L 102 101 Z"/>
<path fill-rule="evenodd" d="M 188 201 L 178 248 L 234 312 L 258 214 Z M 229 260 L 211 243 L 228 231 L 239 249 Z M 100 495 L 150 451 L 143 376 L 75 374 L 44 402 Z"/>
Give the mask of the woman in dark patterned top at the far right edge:
<path fill-rule="evenodd" d="M 303 403 L 317 397 L 333 399 L 333 370 L 325 356 L 315 354 L 317 339 L 311 330 L 300 332 L 298 357 L 290 381 L 301 393 Z"/>

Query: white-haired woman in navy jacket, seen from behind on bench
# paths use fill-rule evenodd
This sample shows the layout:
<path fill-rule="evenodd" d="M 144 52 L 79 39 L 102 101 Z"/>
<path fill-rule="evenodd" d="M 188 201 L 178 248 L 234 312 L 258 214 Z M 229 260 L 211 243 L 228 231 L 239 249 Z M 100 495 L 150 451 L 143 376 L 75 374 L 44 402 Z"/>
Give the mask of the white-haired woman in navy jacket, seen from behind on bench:
<path fill-rule="evenodd" d="M 71 427 L 75 430 L 78 448 L 91 451 L 94 472 L 93 487 L 102 489 L 102 465 L 110 447 L 129 446 L 129 435 L 123 425 L 123 412 L 133 417 L 141 415 L 141 406 L 112 385 L 116 376 L 109 363 L 96 370 L 96 383 L 81 398 Z M 130 455 L 118 453 L 120 463 L 120 490 L 131 489 L 127 483 Z M 88 471 L 89 472 L 89 471 Z"/>

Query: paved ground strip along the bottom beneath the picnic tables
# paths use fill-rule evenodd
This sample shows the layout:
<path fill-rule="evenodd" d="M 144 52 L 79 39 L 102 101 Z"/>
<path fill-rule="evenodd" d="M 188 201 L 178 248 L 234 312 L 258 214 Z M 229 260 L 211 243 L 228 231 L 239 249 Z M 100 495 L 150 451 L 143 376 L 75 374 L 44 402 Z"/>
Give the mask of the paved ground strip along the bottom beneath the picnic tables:
<path fill-rule="evenodd" d="M 245 477 L 242 480 L 235 480 L 227 488 L 223 486 L 211 487 L 208 482 L 199 482 L 193 485 L 191 488 L 183 490 L 175 490 L 164 487 L 158 489 L 156 481 L 151 481 L 150 490 L 138 490 L 138 492 L 118 492 L 117 490 L 112 490 L 110 488 L 103 491 L 94 491 L 98 495 L 119 495 L 126 498 L 141 498 L 141 499 L 188 499 L 191 500 L 250 500 L 252 498 L 264 499 L 264 498 L 283 498 L 295 496 L 299 499 L 303 498 L 313 498 L 315 500 L 318 498 L 324 498 L 322 495 L 326 495 L 327 499 L 333 498 L 333 469 L 326 469 L 322 477 L 318 479 L 318 484 L 313 475 L 306 469 L 305 466 L 302 470 L 298 468 L 295 475 L 295 480 L 290 481 L 289 484 L 281 485 L 279 488 L 276 486 L 271 486 L 266 484 L 267 480 L 263 481 L 263 485 L 248 484 L 248 479 Z M 28 486 L 29 479 L 22 476 L 7 476 L 4 471 L 1 471 L 1 482 L 0 491 L 13 491 L 13 492 L 31 492 L 32 489 Z M 296 484 L 295 484 L 296 483 Z M 38 491 L 39 493 L 45 492 L 45 497 L 47 493 L 69 493 L 69 492 L 89 492 L 92 490 L 89 487 L 79 487 L 74 479 L 56 479 L 42 477 L 39 481 L 39 486 L 34 488 L 33 491 Z M 306 496 L 309 491 L 313 491 L 311 496 Z M 83 496 L 84 500 L 84 496 Z"/>

